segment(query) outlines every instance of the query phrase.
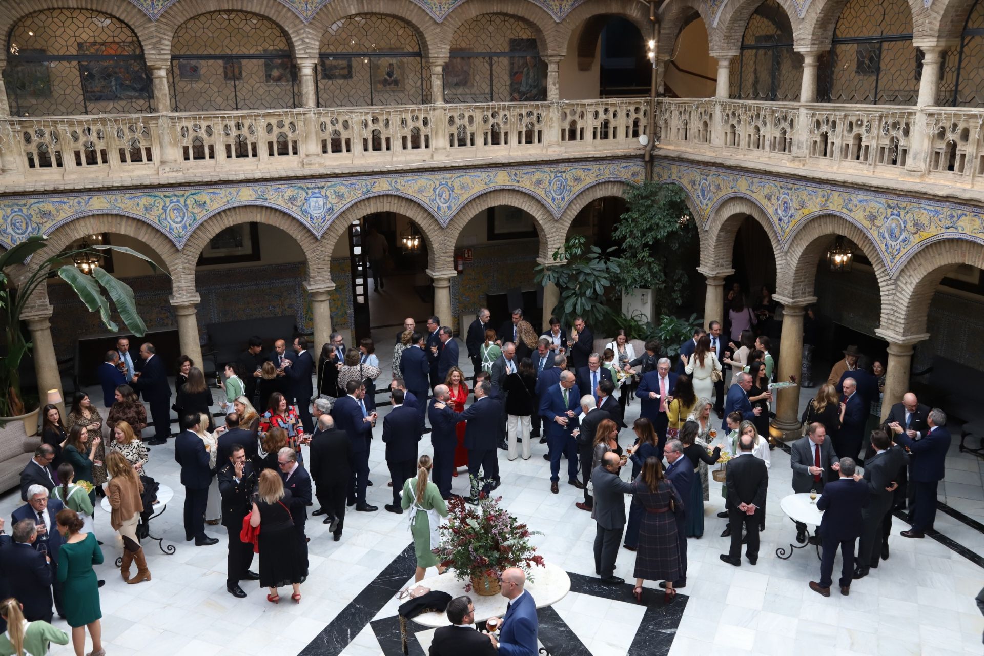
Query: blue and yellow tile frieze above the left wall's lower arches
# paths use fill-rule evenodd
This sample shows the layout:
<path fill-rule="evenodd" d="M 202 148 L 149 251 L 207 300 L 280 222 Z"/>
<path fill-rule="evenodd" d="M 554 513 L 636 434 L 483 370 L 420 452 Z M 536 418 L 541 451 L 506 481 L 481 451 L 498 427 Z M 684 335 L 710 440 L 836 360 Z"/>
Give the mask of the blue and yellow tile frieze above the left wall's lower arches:
<path fill-rule="evenodd" d="M 267 184 L 11 196 L 0 198 L 0 246 L 10 248 L 31 235 L 49 234 L 81 216 L 110 213 L 147 221 L 181 248 L 209 216 L 248 205 L 281 209 L 320 238 L 344 209 L 360 199 L 386 194 L 420 204 L 445 227 L 468 201 L 497 189 L 528 194 L 556 218 L 597 183 L 640 182 L 644 176 L 642 160 L 633 158 Z"/>

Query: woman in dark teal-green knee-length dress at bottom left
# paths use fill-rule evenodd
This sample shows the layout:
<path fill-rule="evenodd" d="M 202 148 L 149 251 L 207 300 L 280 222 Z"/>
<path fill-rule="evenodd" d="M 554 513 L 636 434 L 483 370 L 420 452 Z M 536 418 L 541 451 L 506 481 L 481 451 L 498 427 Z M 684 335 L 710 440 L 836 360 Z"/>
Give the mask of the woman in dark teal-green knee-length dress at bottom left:
<path fill-rule="evenodd" d="M 93 565 L 102 565 L 102 551 L 92 533 L 82 533 L 82 517 L 75 510 L 64 508 L 55 517 L 58 532 L 65 543 L 58 549 L 58 582 L 63 587 L 62 605 L 65 620 L 72 627 L 72 646 L 76 656 L 83 656 L 86 647 L 86 628 L 92 637 L 89 656 L 104 656 L 102 626 L 99 618 L 99 584 Z"/>

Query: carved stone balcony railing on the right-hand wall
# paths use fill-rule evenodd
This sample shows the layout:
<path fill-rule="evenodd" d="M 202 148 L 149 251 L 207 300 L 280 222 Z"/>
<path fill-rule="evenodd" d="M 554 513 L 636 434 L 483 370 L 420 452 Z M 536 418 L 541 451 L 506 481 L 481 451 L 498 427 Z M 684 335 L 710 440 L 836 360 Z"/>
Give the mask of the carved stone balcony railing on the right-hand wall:
<path fill-rule="evenodd" d="M 984 110 L 702 98 L 655 111 L 664 148 L 984 187 Z"/>

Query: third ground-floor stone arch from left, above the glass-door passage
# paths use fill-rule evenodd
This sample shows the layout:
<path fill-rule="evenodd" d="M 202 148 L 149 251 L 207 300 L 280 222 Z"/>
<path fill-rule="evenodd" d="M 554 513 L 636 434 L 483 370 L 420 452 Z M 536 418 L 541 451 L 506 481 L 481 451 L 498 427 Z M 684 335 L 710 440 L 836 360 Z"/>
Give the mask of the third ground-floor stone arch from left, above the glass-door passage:
<path fill-rule="evenodd" d="M 431 270 L 454 268 L 454 244 L 446 246 L 445 230 L 429 209 L 402 196 L 379 194 L 363 198 L 341 210 L 321 236 L 319 253 L 324 254 L 326 262 L 331 262 L 335 245 L 348 226 L 357 218 L 381 211 L 394 211 L 413 221 L 427 243 L 427 266 Z"/>

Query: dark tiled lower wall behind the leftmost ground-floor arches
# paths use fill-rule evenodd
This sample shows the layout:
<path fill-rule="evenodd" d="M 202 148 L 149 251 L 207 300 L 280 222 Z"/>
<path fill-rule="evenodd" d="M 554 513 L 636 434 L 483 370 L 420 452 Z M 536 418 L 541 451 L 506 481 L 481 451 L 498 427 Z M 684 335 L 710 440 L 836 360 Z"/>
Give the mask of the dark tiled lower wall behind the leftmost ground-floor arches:
<path fill-rule="evenodd" d="M 203 269 L 195 274 L 195 286 L 202 302 L 198 306 L 199 334 L 205 335 L 205 327 L 216 322 L 250 319 L 251 317 L 281 317 L 294 315 L 297 326 L 310 333 L 314 327 L 311 319 L 311 302 L 304 289 L 305 265 L 302 263 L 262 267 Z M 348 260 L 332 262 L 332 279 L 336 288 L 331 292 L 332 324 L 339 328 L 349 326 L 351 298 Z M 168 297 L 170 281 L 163 275 L 128 277 L 126 283 L 133 287 L 137 306 L 147 328 L 173 328 L 174 309 Z M 75 355 L 76 340 L 84 335 L 100 334 L 106 328 L 97 314 L 88 312 L 75 292 L 66 284 L 52 284 L 48 299 L 54 307 L 51 317 L 51 335 L 58 359 Z M 342 302 L 342 299 L 345 299 Z M 120 323 L 119 317 L 113 317 Z M 122 328 L 125 330 L 126 328 Z"/>

